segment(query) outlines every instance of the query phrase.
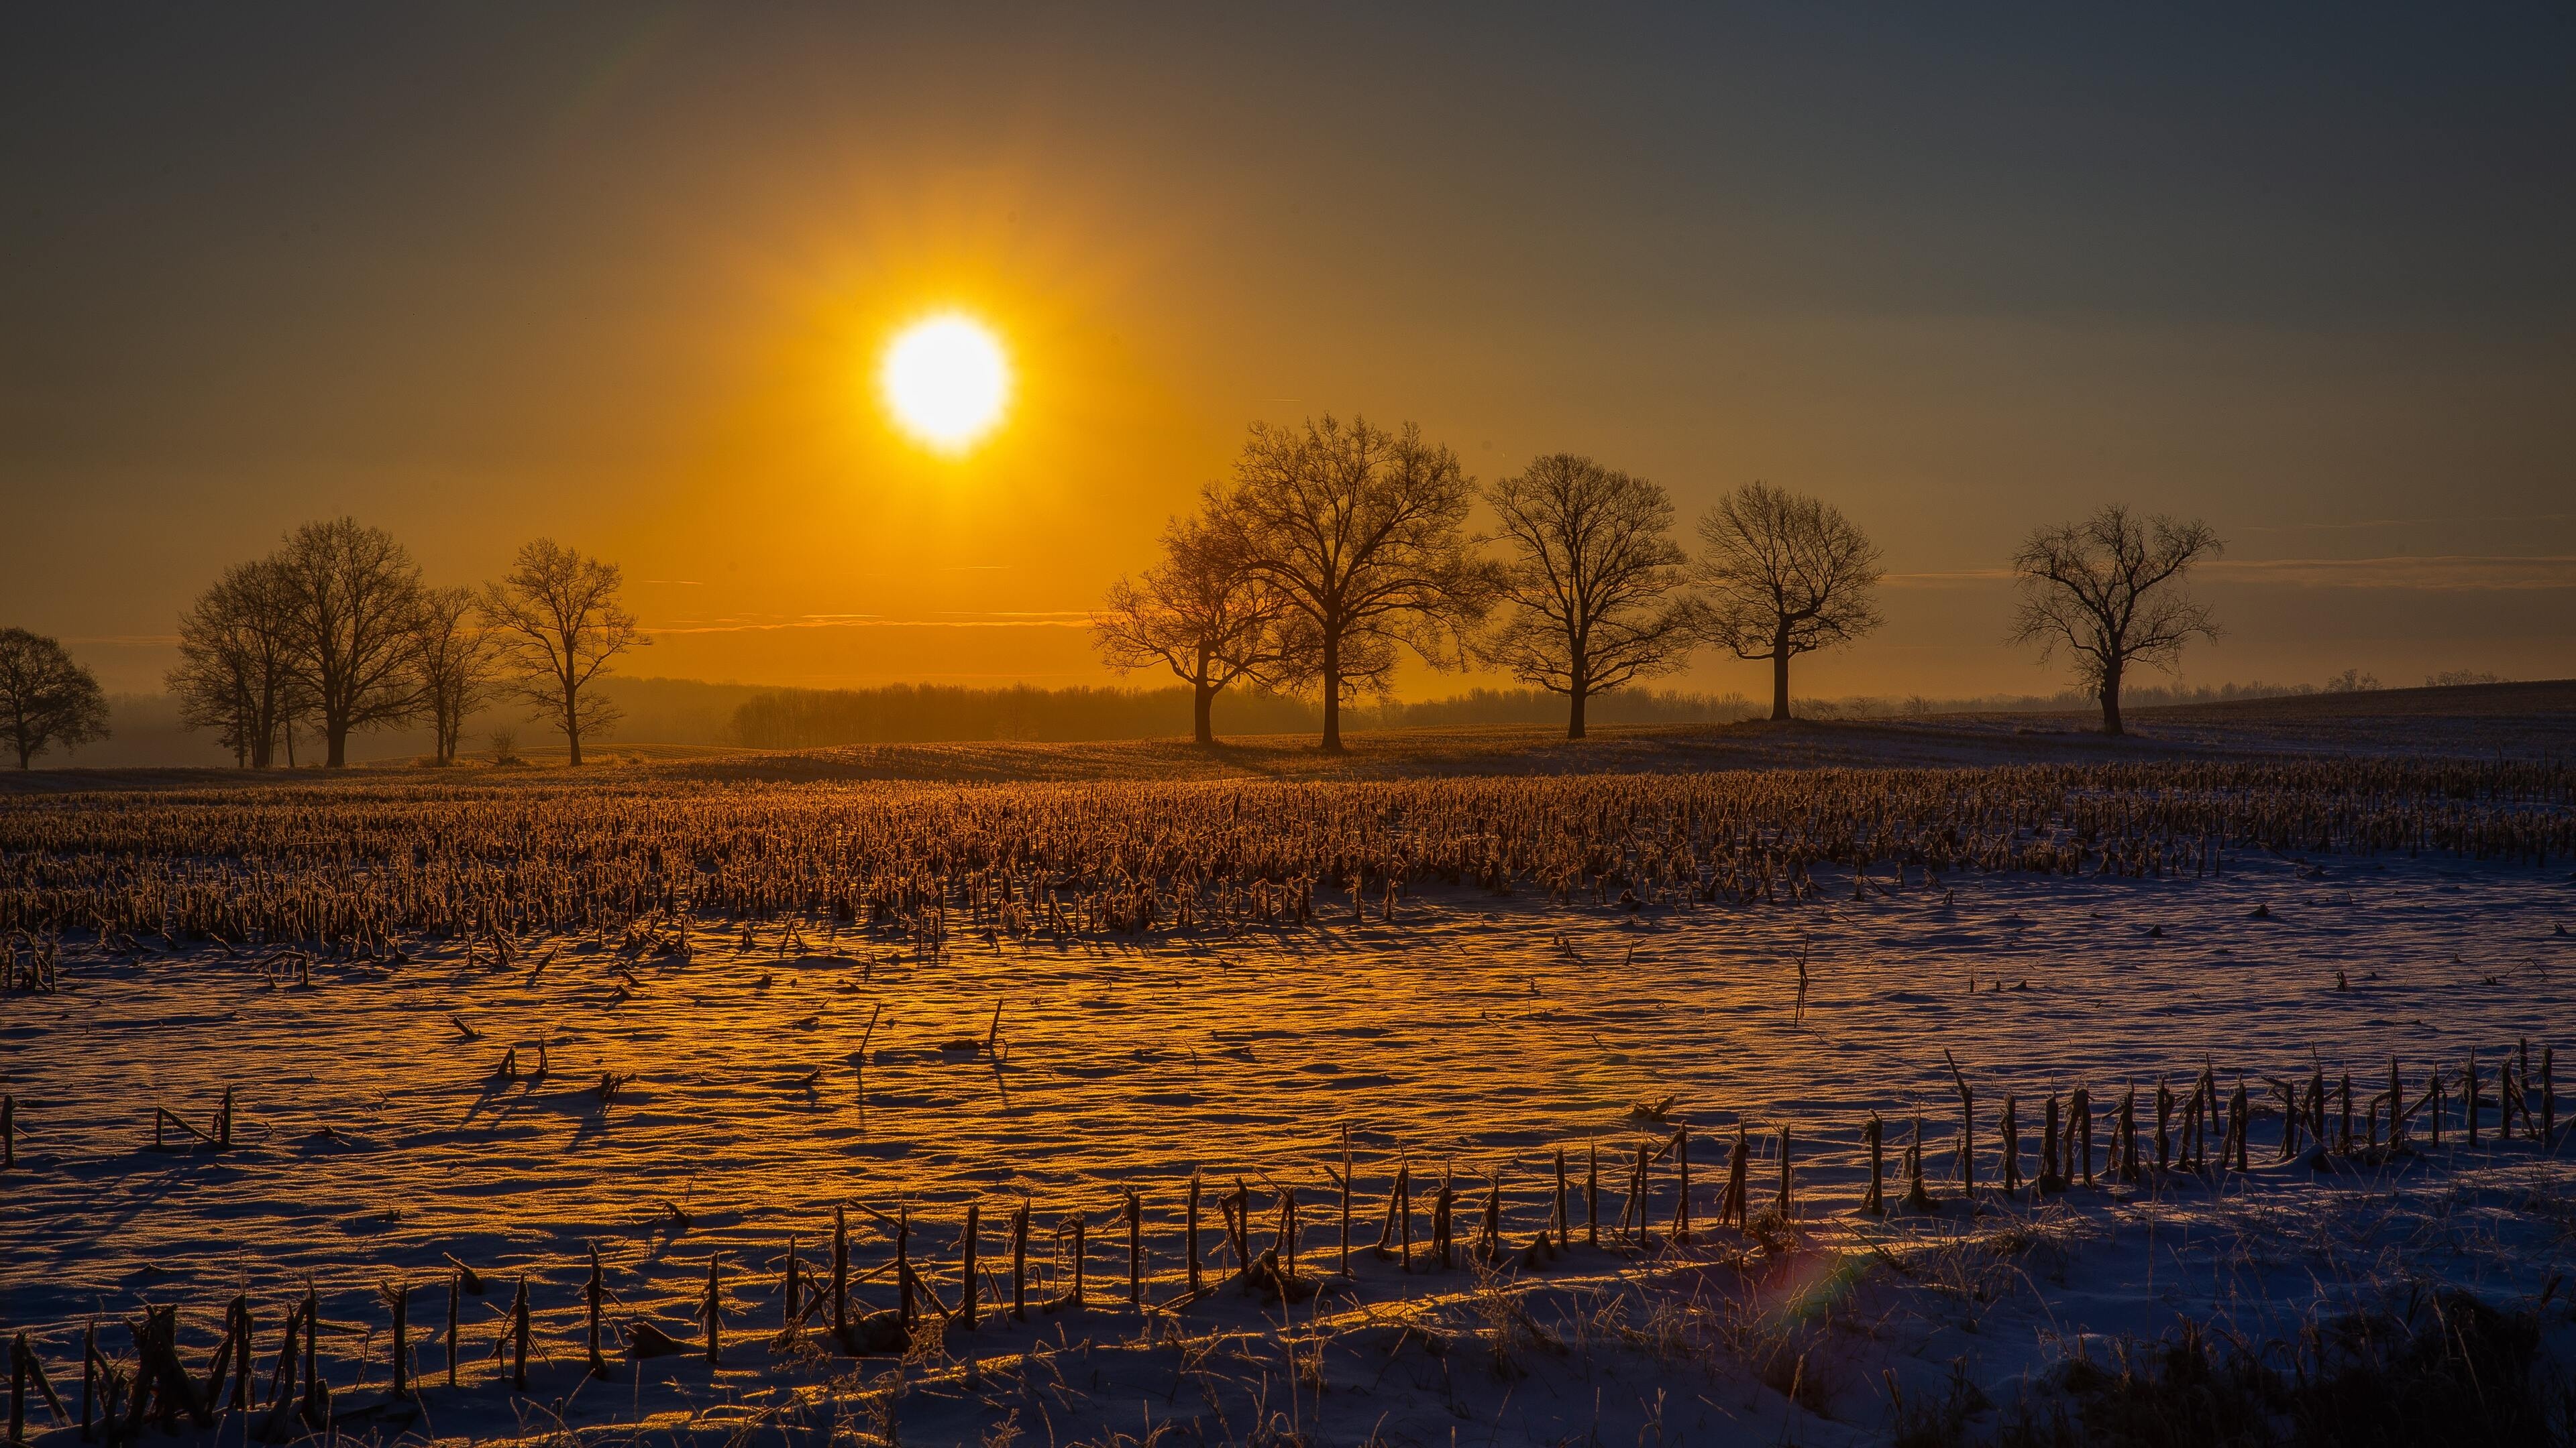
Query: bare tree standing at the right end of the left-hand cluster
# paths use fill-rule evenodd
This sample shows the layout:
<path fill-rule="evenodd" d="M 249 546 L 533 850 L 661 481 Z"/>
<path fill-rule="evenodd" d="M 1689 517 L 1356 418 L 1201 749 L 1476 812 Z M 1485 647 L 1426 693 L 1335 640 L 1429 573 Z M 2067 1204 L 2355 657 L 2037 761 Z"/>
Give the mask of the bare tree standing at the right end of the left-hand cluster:
<path fill-rule="evenodd" d="M 608 698 L 585 693 L 590 680 L 608 672 L 608 660 L 652 644 L 618 603 L 621 587 L 618 564 L 536 538 L 518 549 L 518 567 L 482 593 L 492 647 L 515 675 L 513 691 L 536 719 L 562 729 L 572 768 L 582 768 L 582 737 L 618 721 Z"/>

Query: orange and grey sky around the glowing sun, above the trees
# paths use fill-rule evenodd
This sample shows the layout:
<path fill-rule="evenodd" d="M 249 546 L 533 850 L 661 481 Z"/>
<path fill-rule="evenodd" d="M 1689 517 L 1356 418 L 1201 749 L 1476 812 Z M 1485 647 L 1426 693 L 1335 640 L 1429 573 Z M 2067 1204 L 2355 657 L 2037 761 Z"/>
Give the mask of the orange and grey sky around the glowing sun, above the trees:
<path fill-rule="evenodd" d="M 2004 559 L 2110 500 L 2228 544 L 2187 683 L 2576 675 L 2566 8 L 13 5 L 0 260 L 0 624 L 111 691 L 343 513 L 618 562 L 629 672 L 1108 683 L 1324 412 L 1832 500 L 1801 693 L 2056 688 Z M 943 309 L 961 456 L 873 384 Z"/>

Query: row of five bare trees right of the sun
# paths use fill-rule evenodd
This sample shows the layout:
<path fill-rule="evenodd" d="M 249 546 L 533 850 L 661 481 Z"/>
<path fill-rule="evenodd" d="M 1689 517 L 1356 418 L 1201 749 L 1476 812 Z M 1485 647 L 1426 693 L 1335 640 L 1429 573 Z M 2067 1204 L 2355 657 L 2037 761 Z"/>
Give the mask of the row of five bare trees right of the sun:
<path fill-rule="evenodd" d="M 1494 536 L 1468 526 L 1479 500 Z M 1340 750 L 1345 698 L 1386 693 L 1406 652 L 1564 696 L 1566 737 L 1582 739 L 1595 696 L 1669 675 L 1698 647 L 1770 662 L 1770 716 L 1790 719 L 1790 660 L 1880 624 L 1880 551 L 1832 502 L 1749 482 L 1700 515 L 1698 557 L 1672 528 L 1662 484 L 1587 456 L 1548 453 L 1479 490 L 1412 423 L 1255 423 L 1231 482 L 1164 528 L 1144 575 L 1110 585 L 1095 644 L 1113 670 L 1188 685 L 1200 745 L 1216 696 L 1249 683 L 1319 693 L 1324 750 Z M 2184 587 L 2218 549 L 2208 523 L 2125 505 L 2035 528 L 2012 557 L 2012 642 L 2043 660 L 2063 649 L 2120 734 L 2128 675 L 2218 636 Z"/>

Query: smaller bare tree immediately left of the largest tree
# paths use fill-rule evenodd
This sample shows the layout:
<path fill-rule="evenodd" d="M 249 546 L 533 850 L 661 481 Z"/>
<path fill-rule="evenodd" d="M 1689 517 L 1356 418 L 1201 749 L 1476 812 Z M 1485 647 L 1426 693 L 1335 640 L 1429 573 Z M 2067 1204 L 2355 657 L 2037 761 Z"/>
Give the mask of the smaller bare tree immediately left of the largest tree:
<path fill-rule="evenodd" d="M 1092 618 L 1092 647 L 1118 672 L 1162 665 L 1190 685 L 1190 732 L 1216 742 L 1216 696 L 1265 678 L 1285 660 L 1285 603 L 1226 551 L 1229 531 L 1208 518 L 1175 518 L 1162 562 L 1139 582 L 1110 585 Z"/>

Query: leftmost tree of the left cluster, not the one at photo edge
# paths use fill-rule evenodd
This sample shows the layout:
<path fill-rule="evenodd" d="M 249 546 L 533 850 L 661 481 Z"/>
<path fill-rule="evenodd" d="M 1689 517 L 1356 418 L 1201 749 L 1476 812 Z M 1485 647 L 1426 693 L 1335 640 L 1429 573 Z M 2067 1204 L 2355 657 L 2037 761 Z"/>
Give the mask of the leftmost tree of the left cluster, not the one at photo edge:
<path fill-rule="evenodd" d="M 276 559 L 224 569 L 178 618 L 167 675 L 180 724 L 214 729 L 237 765 L 265 770 L 278 734 L 312 711 L 294 670 L 294 590 Z"/>

